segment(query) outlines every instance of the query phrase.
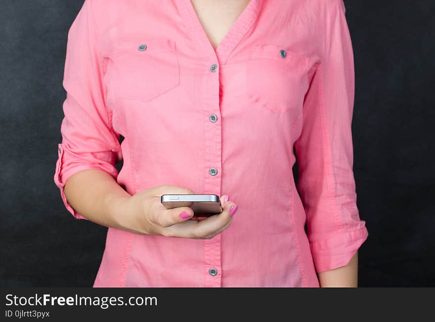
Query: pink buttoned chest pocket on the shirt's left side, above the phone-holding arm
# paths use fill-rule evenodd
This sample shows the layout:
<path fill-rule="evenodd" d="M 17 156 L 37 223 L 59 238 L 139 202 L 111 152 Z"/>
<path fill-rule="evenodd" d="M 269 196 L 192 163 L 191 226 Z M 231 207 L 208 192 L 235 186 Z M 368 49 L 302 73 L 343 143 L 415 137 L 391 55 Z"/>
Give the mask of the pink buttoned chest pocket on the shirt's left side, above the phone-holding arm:
<path fill-rule="evenodd" d="M 107 66 L 108 98 L 149 102 L 180 84 L 172 39 L 121 39 Z"/>

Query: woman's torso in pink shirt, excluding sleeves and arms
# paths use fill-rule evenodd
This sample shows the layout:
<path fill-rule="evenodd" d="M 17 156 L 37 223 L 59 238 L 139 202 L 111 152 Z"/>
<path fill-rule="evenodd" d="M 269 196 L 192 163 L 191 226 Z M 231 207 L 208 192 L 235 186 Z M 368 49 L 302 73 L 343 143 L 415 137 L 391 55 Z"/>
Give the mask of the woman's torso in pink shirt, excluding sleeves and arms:
<path fill-rule="evenodd" d="M 125 138 L 118 182 L 238 205 L 210 240 L 109 228 L 94 286 L 319 286 L 292 167 L 323 1 L 235 2 L 208 4 L 202 27 L 190 0 L 93 0 L 107 107 Z"/>

